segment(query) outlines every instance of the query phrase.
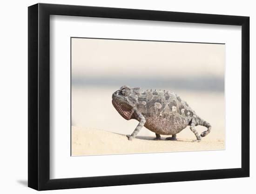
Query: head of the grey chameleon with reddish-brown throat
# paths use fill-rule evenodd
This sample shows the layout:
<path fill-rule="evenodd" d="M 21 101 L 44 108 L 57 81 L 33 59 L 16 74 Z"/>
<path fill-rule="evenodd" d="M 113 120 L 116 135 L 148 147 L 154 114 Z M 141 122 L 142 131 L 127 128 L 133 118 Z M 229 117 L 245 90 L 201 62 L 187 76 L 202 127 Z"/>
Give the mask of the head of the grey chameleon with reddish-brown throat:
<path fill-rule="evenodd" d="M 112 94 L 112 104 L 126 120 L 131 119 L 138 103 L 138 88 L 122 86 Z"/>

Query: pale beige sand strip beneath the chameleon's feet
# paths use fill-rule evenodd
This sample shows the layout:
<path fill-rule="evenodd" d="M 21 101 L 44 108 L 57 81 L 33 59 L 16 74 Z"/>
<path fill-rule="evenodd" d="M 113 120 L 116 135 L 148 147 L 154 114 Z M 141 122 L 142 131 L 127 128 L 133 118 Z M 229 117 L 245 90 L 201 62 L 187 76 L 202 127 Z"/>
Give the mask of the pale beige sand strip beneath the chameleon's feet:
<path fill-rule="evenodd" d="M 181 137 L 189 134 L 187 128 L 183 131 L 185 133 Z M 213 137 L 206 136 L 201 142 L 192 142 L 195 139 L 193 135 L 189 135 L 191 139 L 177 138 L 176 141 L 165 140 L 165 137 L 162 136 L 162 140 L 153 140 L 153 136 L 137 136 L 129 141 L 125 134 L 73 126 L 72 156 L 225 149 L 224 140 Z"/>

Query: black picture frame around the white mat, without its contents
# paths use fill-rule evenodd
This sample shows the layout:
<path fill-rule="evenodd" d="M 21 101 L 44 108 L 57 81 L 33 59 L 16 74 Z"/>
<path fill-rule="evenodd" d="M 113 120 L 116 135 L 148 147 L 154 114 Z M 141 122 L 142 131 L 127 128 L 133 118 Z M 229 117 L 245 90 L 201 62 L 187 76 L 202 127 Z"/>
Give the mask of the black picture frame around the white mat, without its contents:
<path fill-rule="evenodd" d="M 242 167 L 186 172 L 50 179 L 50 15 L 242 26 Z M 28 7 L 28 187 L 36 190 L 52 190 L 248 176 L 249 17 L 41 3 Z"/>

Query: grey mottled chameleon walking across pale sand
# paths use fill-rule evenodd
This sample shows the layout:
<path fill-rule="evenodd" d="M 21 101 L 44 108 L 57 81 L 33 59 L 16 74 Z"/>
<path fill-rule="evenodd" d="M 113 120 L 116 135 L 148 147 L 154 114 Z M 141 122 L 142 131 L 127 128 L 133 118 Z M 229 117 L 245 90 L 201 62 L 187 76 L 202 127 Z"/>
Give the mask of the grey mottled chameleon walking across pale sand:
<path fill-rule="evenodd" d="M 126 135 L 128 140 L 135 138 L 143 126 L 155 133 L 155 140 L 161 140 L 161 135 L 172 135 L 166 140 L 177 140 L 176 134 L 189 126 L 196 137 L 193 141 L 200 142 L 211 131 L 211 125 L 173 92 L 122 86 L 112 94 L 112 104 L 124 119 L 139 121 L 134 132 Z M 207 130 L 198 134 L 195 130 L 198 125 Z"/>

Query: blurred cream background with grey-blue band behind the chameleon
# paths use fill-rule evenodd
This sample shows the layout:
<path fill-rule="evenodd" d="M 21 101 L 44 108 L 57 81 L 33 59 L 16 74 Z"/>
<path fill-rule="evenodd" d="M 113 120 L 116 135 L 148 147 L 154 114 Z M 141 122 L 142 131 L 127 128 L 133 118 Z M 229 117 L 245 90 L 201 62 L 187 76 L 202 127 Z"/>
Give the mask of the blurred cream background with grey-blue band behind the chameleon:
<path fill-rule="evenodd" d="M 175 92 L 212 124 L 205 138 L 224 140 L 224 44 L 72 38 L 71 54 L 73 126 L 131 134 L 138 121 L 124 120 L 111 103 L 128 85 Z M 146 128 L 138 135 L 155 136 Z M 195 139 L 189 127 L 181 137 Z"/>

